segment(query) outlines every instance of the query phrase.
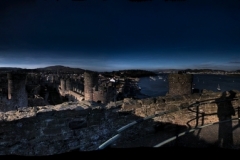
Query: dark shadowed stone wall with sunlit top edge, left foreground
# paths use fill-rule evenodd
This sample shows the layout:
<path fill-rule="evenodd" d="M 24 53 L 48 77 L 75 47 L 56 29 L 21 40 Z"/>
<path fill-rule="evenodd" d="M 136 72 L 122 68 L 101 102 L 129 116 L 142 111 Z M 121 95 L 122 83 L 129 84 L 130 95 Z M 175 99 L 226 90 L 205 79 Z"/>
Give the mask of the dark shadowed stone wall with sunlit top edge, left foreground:
<path fill-rule="evenodd" d="M 85 104 L 84 104 L 85 103 Z M 87 102 L 0 112 L 0 155 L 53 155 L 96 150 L 137 117 Z"/>

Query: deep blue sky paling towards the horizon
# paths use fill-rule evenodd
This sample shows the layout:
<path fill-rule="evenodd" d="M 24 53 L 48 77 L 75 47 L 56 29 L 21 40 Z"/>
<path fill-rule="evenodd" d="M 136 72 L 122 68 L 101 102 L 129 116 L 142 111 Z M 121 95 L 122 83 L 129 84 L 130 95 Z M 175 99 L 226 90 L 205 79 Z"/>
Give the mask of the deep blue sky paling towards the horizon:
<path fill-rule="evenodd" d="M 0 0 L 0 67 L 240 69 L 240 0 Z"/>

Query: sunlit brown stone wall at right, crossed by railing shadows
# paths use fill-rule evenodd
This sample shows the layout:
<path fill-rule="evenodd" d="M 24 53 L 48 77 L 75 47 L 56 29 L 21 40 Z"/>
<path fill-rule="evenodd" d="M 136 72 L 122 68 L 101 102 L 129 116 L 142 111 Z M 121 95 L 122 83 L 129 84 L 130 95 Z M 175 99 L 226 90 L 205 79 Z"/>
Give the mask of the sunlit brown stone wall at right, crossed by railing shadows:
<path fill-rule="evenodd" d="M 235 115 L 232 114 L 231 117 L 237 118 L 237 113 L 240 107 L 240 92 L 234 92 L 236 95 L 234 99 L 232 99 L 231 105 L 232 109 L 235 110 Z M 198 121 L 204 120 L 205 124 L 218 122 L 219 114 L 221 114 L 220 112 L 223 114 L 228 113 L 229 110 L 231 110 L 231 106 L 219 107 L 219 102 L 222 100 L 224 100 L 222 92 L 212 92 L 207 90 L 203 90 L 202 94 L 196 93 L 181 96 L 168 95 L 141 100 L 125 98 L 123 100 L 121 111 L 131 111 L 139 117 L 148 117 L 159 113 L 170 112 L 154 119 L 158 122 L 194 127 L 200 125 Z M 226 106 L 227 104 L 223 105 Z"/>

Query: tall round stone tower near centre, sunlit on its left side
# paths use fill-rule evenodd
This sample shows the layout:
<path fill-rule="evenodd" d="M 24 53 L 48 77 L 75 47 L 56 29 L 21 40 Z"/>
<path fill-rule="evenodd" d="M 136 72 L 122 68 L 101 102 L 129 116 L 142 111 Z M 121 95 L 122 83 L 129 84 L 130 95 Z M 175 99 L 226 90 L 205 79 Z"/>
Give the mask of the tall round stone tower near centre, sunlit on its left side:
<path fill-rule="evenodd" d="M 93 101 L 93 88 L 98 84 L 97 72 L 84 72 L 84 99 Z"/>

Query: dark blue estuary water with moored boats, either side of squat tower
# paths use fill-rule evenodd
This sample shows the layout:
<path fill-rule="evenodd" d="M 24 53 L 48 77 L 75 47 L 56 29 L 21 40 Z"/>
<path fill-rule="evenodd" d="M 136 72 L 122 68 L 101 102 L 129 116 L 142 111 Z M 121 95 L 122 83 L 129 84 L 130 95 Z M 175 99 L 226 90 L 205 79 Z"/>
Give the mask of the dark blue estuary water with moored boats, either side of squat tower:
<path fill-rule="evenodd" d="M 167 74 L 160 74 L 154 76 L 154 78 L 142 77 L 138 84 L 141 87 L 141 93 L 151 97 L 165 96 L 168 92 Z M 229 90 L 240 91 L 240 76 L 212 74 L 193 75 L 193 88 L 200 90 L 207 89 L 217 92 L 218 84 L 221 88 L 220 92 Z"/>

